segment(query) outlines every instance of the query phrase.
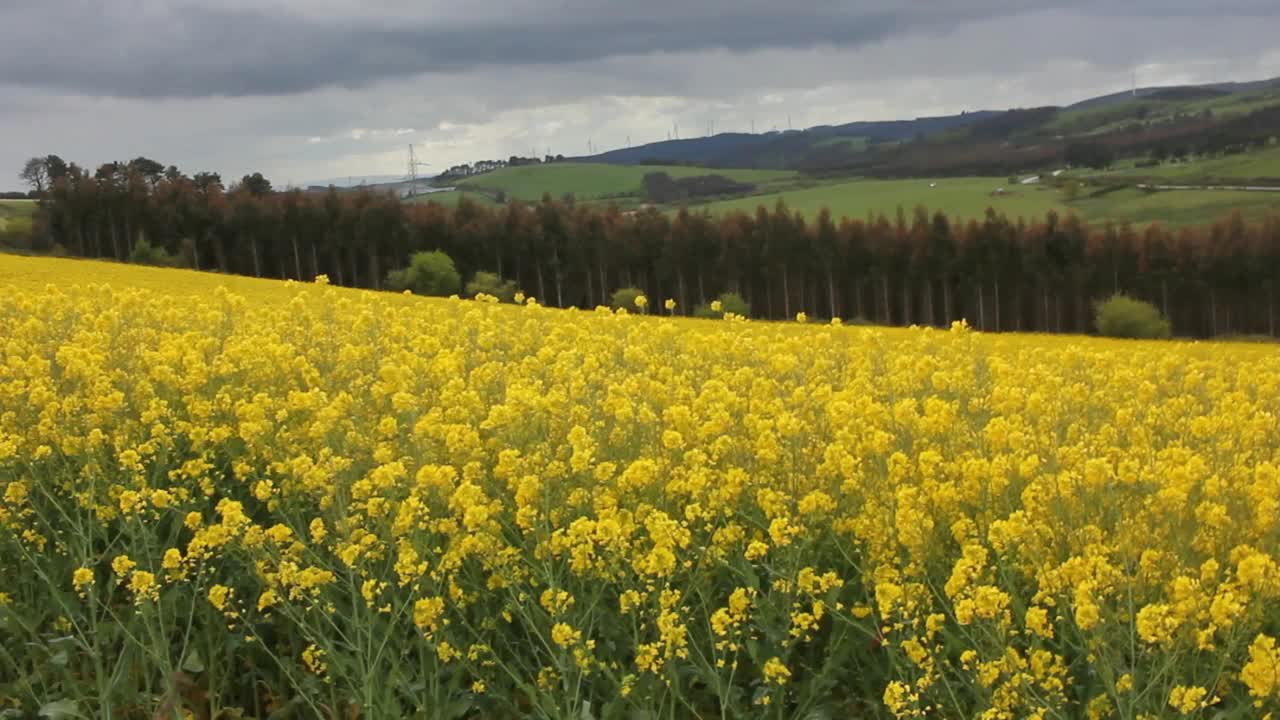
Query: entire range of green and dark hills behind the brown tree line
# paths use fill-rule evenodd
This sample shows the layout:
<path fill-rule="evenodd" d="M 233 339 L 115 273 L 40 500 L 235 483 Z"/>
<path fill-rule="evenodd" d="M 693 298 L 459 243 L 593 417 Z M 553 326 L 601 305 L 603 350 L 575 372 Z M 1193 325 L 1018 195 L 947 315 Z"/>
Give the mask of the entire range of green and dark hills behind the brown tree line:
<path fill-rule="evenodd" d="M 1056 209 L 1092 222 L 1187 224 L 1212 222 L 1233 209 L 1251 217 L 1280 211 L 1280 192 L 1155 192 L 1138 186 L 1280 186 L 1277 133 L 1280 81 L 1148 87 L 1065 108 L 672 140 L 503 168 L 461 181 L 456 192 L 419 200 L 536 202 L 547 193 L 634 209 L 657 199 L 668 211 L 687 205 L 716 214 L 772 208 L 781 199 L 810 218 L 823 208 L 837 218 L 863 218 L 923 205 L 957 219 L 980 217 L 987 208 L 1027 218 Z M 1076 146 L 1119 160 L 1106 169 L 1076 167 L 1051 176 L 1048 170 L 1068 167 Z M 753 187 L 713 188 L 717 195 L 701 197 L 650 195 L 641 187 L 650 172 L 677 183 L 714 173 Z M 1042 174 L 1043 182 L 1021 184 L 1029 174 Z"/>

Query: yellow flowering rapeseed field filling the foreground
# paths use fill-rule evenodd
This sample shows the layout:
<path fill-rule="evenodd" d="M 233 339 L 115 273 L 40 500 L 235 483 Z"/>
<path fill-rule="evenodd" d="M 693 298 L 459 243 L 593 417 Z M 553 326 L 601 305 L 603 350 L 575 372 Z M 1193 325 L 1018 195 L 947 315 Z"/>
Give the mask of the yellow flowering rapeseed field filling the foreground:
<path fill-rule="evenodd" d="M 663 305 L 0 256 L 0 717 L 1280 706 L 1274 346 Z"/>

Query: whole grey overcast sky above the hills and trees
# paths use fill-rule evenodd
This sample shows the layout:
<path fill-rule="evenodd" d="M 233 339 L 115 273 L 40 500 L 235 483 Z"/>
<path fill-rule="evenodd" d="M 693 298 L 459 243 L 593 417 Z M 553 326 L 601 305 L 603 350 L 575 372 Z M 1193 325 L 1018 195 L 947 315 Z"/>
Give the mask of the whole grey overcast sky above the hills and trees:
<path fill-rule="evenodd" d="M 49 152 L 284 184 L 1069 104 L 1280 76 L 1277 32 L 1275 0 L 0 0 L 0 188 Z"/>

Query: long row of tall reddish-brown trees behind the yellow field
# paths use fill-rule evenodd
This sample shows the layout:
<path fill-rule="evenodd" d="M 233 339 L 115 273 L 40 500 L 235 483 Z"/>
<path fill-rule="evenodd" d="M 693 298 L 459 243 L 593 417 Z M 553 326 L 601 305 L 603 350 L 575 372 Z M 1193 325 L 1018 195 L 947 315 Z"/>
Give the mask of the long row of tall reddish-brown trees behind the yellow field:
<path fill-rule="evenodd" d="M 146 160 L 146 159 L 141 159 Z M 1180 336 L 1275 336 L 1280 217 L 1235 213 L 1202 227 L 1089 225 L 1075 215 L 956 219 L 924 208 L 806 218 L 576 204 L 544 196 L 489 208 L 404 204 L 370 191 L 275 191 L 260 173 L 224 186 L 154 161 L 56 167 L 33 250 L 160 258 L 200 270 L 381 290 L 415 252 L 449 255 L 462 278 L 513 281 L 544 305 L 607 305 L 621 287 L 691 311 L 737 292 L 754 316 L 841 316 L 987 331 L 1091 332 L 1093 301 L 1126 293 Z"/>

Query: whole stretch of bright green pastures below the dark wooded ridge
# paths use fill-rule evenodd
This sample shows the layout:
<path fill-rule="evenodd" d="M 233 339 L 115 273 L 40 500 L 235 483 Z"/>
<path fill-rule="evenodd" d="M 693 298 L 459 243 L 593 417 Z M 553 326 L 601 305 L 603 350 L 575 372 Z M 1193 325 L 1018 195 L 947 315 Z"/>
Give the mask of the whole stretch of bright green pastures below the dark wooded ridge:
<path fill-rule="evenodd" d="M 1211 223 L 1233 210 L 1257 218 L 1280 211 L 1280 192 L 1178 190 L 1151 192 L 1137 187 L 1093 195 L 1107 182 L 1138 182 L 1138 178 L 1170 183 L 1194 183 L 1204 178 L 1230 181 L 1231 178 L 1280 177 L 1280 147 L 1240 155 L 1226 155 L 1185 163 L 1166 163 L 1155 168 L 1134 168 L 1133 163 L 1108 173 L 1082 173 L 1087 184 L 1074 200 L 1061 191 L 1042 184 L 1009 184 L 1009 178 L 961 177 L 920 179 L 845 179 L 815 181 L 776 170 L 708 170 L 689 167 L 635 167 L 603 164 L 552 164 L 504 168 L 474 178 L 460 190 L 419 196 L 413 201 L 433 201 L 456 205 L 463 196 L 483 205 L 494 205 L 500 190 L 508 199 L 535 202 L 543 192 L 553 197 L 573 195 L 584 201 L 620 199 L 620 204 L 636 206 L 640 179 L 645 173 L 662 170 L 673 177 L 689 177 L 709 172 L 756 183 L 759 192 L 728 200 L 692 204 L 695 210 L 722 214 L 735 210 L 754 213 L 756 208 L 772 209 L 780 199 L 791 210 L 815 218 L 827 208 L 836 218 L 865 218 L 868 214 L 893 217 L 897 208 L 911 213 L 923 205 L 929 211 L 942 210 L 952 219 L 980 218 L 987 208 L 1010 218 L 1042 218 L 1048 210 L 1074 211 L 1085 220 L 1130 222 L 1137 225 L 1161 223 L 1184 225 Z M 997 193 L 997 188 L 1004 188 Z M 676 206 L 666 208 L 675 211 Z"/>

